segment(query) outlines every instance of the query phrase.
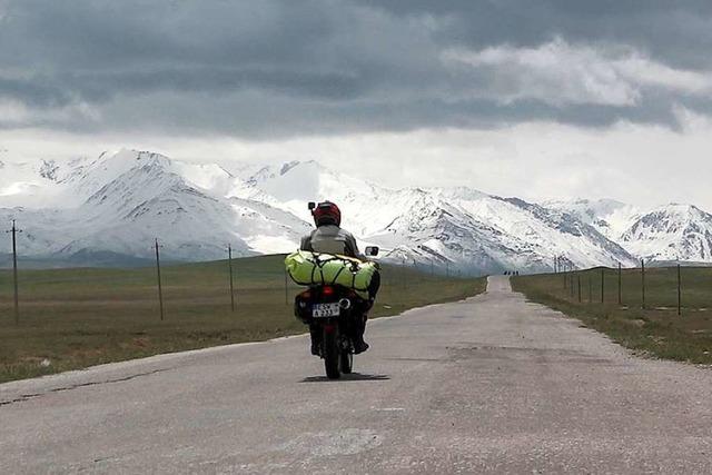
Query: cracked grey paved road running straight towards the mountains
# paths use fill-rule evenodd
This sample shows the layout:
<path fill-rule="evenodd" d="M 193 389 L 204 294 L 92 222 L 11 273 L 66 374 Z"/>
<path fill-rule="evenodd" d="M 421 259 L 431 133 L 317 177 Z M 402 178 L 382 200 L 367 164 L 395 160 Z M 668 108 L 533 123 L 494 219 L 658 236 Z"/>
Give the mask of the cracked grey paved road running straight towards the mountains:
<path fill-rule="evenodd" d="M 0 473 L 711 473 L 712 372 L 631 357 L 504 278 L 372 321 L 356 374 L 307 339 L 0 386 Z"/>

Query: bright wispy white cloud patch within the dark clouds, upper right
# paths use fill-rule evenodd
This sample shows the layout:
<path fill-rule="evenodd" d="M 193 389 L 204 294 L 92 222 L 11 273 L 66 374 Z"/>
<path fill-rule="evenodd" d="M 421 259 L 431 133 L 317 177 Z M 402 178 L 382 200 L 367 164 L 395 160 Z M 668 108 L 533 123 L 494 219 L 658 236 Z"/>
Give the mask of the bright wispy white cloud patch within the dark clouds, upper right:
<path fill-rule="evenodd" d="M 635 106 L 643 87 L 709 95 L 712 72 L 674 69 L 621 46 L 571 44 L 562 38 L 537 47 L 508 44 L 479 51 L 446 50 L 446 66 L 487 75 L 502 102 L 537 99 L 563 105 Z M 473 93 L 481 96 L 478 85 Z"/>

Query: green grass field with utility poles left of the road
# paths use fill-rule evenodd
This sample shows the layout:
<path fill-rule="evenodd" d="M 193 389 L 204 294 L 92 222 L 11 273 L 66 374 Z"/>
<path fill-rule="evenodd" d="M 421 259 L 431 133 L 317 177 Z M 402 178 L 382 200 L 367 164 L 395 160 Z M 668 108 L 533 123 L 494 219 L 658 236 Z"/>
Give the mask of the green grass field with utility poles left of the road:
<path fill-rule="evenodd" d="M 12 274 L 0 270 L 0 382 L 304 333 L 291 313 L 301 287 L 289 281 L 285 296 L 283 260 L 234 260 L 235 313 L 227 261 L 162 267 L 164 321 L 154 268 L 87 268 L 21 271 L 16 326 Z M 484 287 L 484 279 L 447 279 L 384 266 L 372 317 L 461 299 Z"/>

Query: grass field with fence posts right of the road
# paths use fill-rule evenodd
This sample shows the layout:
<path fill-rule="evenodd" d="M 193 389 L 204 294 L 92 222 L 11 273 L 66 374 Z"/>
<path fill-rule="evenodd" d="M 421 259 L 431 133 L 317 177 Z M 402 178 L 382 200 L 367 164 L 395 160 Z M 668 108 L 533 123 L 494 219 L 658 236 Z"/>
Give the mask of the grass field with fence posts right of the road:
<path fill-rule="evenodd" d="M 567 288 L 564 274 L 515 277 L 512 285 L 530 300 L 576 317 L 629 348 L 668 359 L 712 364 L 712 268 L 683 267 L 681 275 L 681 316 L 676 268 L 645 270 L 644 309 L 640 269 L 622 273 L 622 305 L 619 305 L 617 269 L 575 273 Z"/>

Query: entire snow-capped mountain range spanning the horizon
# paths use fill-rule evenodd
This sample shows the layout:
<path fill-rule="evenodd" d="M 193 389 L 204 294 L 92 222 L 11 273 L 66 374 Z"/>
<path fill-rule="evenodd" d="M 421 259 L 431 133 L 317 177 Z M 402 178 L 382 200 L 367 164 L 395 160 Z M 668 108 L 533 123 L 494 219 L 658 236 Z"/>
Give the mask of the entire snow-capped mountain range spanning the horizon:
<path fill-rule="evenodd" d="M 306 204 L 322 199 L 339 205 L 362 246 L 408 264 L 534 271 L 550 270 L 555 256 L 577 267 L 712 260 L 712 218 L 698 208 L 663 217 L 610 200 L 535 205 L 465 187 L 392 189 L 315 161 L 195 165 L 120 150 L 0 165 L 0 220 L 21 224 L 22 255 L 70 263 L 147 258 L 155 237 L 168 259 L 222 258 L 228 243 L 236 255 L 290 251 L 313 228 Z"/>

